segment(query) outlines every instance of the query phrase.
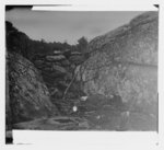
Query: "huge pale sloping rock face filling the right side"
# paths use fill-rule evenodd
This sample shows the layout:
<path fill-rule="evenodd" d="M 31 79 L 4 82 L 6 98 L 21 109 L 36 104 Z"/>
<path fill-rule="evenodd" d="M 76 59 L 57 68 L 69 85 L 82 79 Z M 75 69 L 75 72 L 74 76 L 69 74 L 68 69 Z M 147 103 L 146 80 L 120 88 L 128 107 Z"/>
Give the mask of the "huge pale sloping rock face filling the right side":
<path fill-rule="evenodd" d="M 91 41 L 91 57 L 75 70 L 84 92 L 119 95 L 128 111 L 156 118 L 157 24 L 157 12 L 147 12 Z"/>

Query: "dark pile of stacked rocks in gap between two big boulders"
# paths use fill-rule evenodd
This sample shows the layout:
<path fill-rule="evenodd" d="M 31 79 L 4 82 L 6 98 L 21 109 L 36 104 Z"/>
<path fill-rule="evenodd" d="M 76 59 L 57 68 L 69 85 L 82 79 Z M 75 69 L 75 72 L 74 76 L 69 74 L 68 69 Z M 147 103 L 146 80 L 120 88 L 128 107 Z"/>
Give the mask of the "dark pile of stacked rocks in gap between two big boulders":
<path fill-rule="evenodd" d="M 63 97 L 65 91 L 73 80 L 75 67 L 84 60 L 83 54 L 69 49 L 55 50 L 52 54 L 35 57 L 34 65 L 42 72 L 52 103 Z M 73 81 L 66 96 L 69 99 L 78 96 L 78 91 L 80 91 L 79 85 Z"/>

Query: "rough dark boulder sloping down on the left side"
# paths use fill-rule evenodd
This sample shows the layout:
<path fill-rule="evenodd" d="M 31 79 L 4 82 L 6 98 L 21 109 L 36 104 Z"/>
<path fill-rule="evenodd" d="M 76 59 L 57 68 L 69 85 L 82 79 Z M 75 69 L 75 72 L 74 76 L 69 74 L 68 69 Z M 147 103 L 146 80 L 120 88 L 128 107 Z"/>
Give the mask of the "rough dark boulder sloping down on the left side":
<path fill-rule="evenodd" d="M 49 91 L 40 73 L 31 61 L 19 54 L 9 53 L 7 65 L 7 112 L 10 112 L 7 117 L 11 116 L 12 124 L 58 113 L 49 100 Z"/>

